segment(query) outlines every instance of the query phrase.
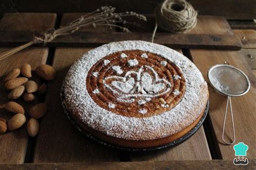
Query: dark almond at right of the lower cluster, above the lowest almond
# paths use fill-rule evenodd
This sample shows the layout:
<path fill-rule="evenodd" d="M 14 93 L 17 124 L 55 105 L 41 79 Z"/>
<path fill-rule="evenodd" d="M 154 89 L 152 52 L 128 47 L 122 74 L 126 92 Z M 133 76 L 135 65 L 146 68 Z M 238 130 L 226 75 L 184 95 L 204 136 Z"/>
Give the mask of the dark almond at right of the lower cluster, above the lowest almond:
<path fill-rule="evenodd" d="M 43 117 L 43 115 L 46 113 L 46 111 L 47 111 L 46 104 L 39 103 L 30 108 L 29 115 L 31 118 L 39 119 L 39 118 Z"/>

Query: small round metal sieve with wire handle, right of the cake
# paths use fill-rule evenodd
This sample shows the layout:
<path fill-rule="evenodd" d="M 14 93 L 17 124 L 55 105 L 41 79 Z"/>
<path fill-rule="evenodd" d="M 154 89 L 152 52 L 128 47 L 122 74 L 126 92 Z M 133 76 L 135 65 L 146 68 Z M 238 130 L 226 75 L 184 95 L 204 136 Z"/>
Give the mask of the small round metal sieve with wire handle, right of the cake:
<path fill-rule="evenodd" d="M 208 70 L 207 77 L 210 81 L 210 84 L 216 91 L 227 96 L 226 111 L 223 121 L 222 140 L 225 144 L 232 145 L 235 142 L 235 130 L 231 97 L 238 97 L 247 93 L 250 89 L 250 81 L 244 72 L 234 66 L 231 66 L 227 62 L 225 62 L 224 64 L 217 64 L 212 66 L 210 70 Z M 230 104 L 233 126 L 233 141 L 231 143 L 226 142 L 224 139 L 228 104 Z"/>

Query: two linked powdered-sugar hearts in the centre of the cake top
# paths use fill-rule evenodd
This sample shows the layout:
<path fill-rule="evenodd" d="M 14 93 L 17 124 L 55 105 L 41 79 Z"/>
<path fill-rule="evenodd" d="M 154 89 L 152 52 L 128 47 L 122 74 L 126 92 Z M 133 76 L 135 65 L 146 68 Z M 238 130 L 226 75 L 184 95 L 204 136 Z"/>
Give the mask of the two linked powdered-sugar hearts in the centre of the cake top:
<path fill-rule="evenodd" d="M 113 92 L 119 101 L 132 103 L 135 98 L 154 98 L 171 90 L 171 83 L 159 78 L 151 66 L 141 66 L 138 71 L 127 71 L 122 76 L 110 76 L 103 80 L 106 89 Z"/>

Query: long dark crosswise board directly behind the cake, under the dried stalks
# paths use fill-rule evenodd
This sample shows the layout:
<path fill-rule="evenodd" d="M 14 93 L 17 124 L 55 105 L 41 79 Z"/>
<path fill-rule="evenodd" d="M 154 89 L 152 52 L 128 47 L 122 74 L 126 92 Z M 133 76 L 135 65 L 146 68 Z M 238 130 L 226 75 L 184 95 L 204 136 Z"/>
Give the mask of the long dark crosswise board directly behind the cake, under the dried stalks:
<path fill-rule="evenodd" d="M 193 31 L 193 30 L 192 30 Z M 18 45 L 32 39 L 31 32 L 0 32 L 0 45 Z M 48 46 L 98 46 L 120 40 L 145 40 L 151 42 L 151 32 L 74 32 L 72 36 L 62 36 Z M 154 43 L 163 44 L 172 48 L 200 48 L 200 49 L 226 49 L 240 50 L 240 39 L 234 35 L 195 35 L 156 33 Z M 41 44 L 42 45 L 42 44 Z"/>

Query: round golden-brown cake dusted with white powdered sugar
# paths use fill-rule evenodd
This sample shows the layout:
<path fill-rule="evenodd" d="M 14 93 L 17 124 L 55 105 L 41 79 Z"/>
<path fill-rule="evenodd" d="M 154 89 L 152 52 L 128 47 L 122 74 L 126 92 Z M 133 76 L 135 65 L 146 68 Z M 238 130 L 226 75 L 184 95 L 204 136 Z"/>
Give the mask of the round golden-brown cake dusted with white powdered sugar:
<path fill-rule="evenodd" d="M 93 137 L 149 148 L 191 131 L 205 111 L 208 89 L 181 53 L 134 40 L 85 53 L 67 73 L 63 96 L 73 120 Z"/>

